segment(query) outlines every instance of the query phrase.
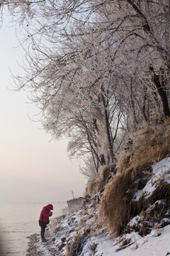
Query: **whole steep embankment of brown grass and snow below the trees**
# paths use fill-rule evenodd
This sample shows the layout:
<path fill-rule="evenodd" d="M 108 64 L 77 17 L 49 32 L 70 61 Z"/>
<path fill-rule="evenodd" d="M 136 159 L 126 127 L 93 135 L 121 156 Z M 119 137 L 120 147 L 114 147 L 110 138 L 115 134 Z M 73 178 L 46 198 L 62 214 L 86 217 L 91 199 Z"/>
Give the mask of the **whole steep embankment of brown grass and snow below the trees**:
<path fill-rule="evenodd" d="M 169 156 L 169 120 L 143 129 L 117 171 L 103 166 L 89 181 L 81 209 L 53 220 L 46 243 L 30 237 L 27 256 L 169 255 Z"/>

